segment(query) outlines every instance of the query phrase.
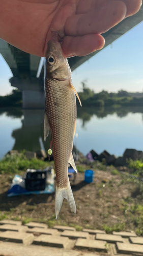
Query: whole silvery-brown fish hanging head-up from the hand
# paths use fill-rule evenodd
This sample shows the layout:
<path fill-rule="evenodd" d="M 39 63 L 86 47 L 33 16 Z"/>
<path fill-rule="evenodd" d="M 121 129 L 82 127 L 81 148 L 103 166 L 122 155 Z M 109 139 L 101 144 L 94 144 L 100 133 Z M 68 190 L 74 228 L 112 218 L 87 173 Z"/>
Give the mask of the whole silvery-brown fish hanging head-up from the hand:
<path fill-rule="evenodd" d="M 61 44 L 55 39 L 48 41 L 44 61 L 44 140 L 51 133 L 56 173 L 55 216 L 59 216 L 64 198 L 76 213 L 76 205 L 68 178 L 68 163 L 77 172 L 73 155 L 73 138 L 76 131 L 76 98 L 79 96 L 72 84 L 71 69 Z M 81 102 L 80 102 L 81 105 Z"/>

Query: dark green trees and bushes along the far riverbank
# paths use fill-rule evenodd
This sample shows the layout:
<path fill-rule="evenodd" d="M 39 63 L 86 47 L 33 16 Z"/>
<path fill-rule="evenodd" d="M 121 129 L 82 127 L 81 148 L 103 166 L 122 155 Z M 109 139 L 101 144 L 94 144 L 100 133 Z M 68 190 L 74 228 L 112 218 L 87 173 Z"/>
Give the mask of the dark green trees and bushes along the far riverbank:
<path fill-rule="evenodd" d="M 95 93 L 87 86 L 87 82 L 83 81 L 82 92 L 79 92 L 79 98 L 82 106 L 85 107 L 113 107 L 120 108 L 121 106 L 143 106 L 143 93 L 130 93 L 124 90 L 118 93 L 108 93 L 102 91 Z M 77 101 L 79 106 L 79 102 Z M 8 106 L 22 106 L 22 93 L 19 90 L 13 90 L 10 95 L 0 96 L 0 108 Z"/>

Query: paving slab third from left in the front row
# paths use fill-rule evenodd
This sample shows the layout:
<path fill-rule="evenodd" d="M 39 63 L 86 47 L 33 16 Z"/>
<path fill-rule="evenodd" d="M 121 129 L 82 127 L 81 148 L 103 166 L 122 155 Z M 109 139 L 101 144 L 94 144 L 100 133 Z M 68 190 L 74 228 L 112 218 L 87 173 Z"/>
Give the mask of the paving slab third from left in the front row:
<path fill-rule="evenodd" d="M 74 248 L 107 252 L 105 244 L 105 241 L 78 238 L 75 242 Z"/>

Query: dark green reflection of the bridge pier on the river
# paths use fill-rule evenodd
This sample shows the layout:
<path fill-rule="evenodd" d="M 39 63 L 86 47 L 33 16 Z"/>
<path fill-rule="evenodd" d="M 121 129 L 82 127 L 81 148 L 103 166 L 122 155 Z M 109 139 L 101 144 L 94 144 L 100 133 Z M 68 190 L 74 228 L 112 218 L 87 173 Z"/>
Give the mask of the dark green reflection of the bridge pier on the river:
<path fill-rule="evenodd" d="M 11 135 L 15 139 L 13 150 L 25 149 L 36 152 L 39 148 L 43 148 L 45 151 L 49 149 L 50 136 L 46 143 L 43 138 L 44 110 L 1 109 L 0 115 L 4 112 L 11 118 L 21 118 L 22 122 L 22 127 L 13 130 Z"/>

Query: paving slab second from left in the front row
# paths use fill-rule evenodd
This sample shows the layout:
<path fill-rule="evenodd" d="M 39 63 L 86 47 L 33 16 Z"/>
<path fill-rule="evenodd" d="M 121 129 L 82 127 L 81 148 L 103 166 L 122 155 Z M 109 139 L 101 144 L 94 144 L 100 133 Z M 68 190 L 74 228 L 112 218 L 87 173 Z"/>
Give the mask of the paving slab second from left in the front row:
<path fill-rule="evenodd" d="M 34 239 L 33 244 L 67 248 L 69 242 L 69 238 L 62 238 L 58 236 L 46 236 L 45 234 L 41 234 L 41 236 Z"/>

